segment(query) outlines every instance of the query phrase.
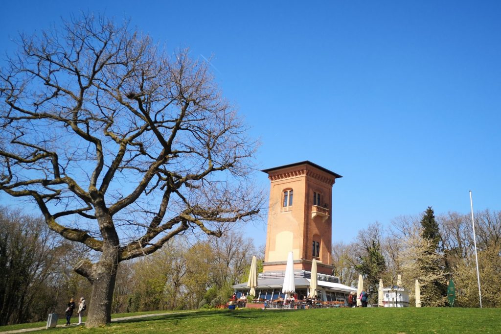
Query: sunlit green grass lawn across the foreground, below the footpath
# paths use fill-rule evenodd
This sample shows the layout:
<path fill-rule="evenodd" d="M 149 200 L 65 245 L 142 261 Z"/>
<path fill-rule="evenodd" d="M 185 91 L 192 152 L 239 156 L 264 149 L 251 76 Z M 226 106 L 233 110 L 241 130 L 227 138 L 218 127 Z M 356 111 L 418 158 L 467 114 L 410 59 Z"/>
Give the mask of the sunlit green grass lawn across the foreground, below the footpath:
<path fill-rule="evenodd" d="M 200 310 L 124 320 L 102 328 L 82 326 L 49 331 L 69 333 L 75 330 L 79 333 L 499 333 L 501 309 Z"/>

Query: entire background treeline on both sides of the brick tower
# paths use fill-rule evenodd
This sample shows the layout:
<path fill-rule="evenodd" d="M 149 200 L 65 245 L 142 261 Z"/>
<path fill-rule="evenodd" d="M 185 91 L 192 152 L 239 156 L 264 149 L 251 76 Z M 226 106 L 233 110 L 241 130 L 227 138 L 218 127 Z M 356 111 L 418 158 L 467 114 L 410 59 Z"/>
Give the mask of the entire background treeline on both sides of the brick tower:
<path fill-rule="evenodd" d="M 482 305 L 501 306 L 501 212 L 475 214 Z M 231 285 L 246 281 L 252 255 L 260 264 L 264 249 L 229 232 L 191 243 L 179 237 L 149 256 L 119 265 L 112 312 L 192 309 L 227 301 Z M 414 302 L 414 280 L 421 283 L 423 306 L 445 306 L 449 278 L 455 282 L 455 306 L 477 307 L 478 289 L 473 233 L 468 214 L 435 218 L 428 208 L 415 217 L 398 217 L 384 230 L 374 223 L 352 243 L 333 245 L 334 275 L 356 285 L 361 273 L 372 301 L 379 279 L 396 284 L 402 275 Z M 73 271 L 94 254 L 49 230 L 44 220 L 0 208 L 0 324 L 47 319 L 64 313 L 70 298 L 90 300 L 90 283 Z"/>

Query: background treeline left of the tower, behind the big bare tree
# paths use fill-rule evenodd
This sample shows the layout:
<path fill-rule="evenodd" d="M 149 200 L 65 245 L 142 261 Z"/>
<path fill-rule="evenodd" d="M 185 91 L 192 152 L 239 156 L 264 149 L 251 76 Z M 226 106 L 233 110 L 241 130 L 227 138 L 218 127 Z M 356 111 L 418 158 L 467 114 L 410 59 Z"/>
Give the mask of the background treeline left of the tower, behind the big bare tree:
<path fill-rule="evenodd" d="M 150 256 L 120 263 L 112 312 L 225 302 L 231 285 L 247 279 L 256 252 L 252 239 L 233 232 L 195 243 L 181 236 Z M 70 298 L 83 296 L 91 308 L 91 285 L 73 266 L 93 255 L 50 231 L 42 218 L 0 207 L 0 325 L 46 320 L 50 312 L 63 316 Z"/>

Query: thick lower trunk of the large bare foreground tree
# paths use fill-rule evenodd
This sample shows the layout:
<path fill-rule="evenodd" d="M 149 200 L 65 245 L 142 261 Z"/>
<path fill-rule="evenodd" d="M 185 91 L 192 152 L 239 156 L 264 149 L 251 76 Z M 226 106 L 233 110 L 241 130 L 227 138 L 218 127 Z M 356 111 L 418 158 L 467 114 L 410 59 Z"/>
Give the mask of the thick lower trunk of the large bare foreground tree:
<path fill-rule="evenodd" d="M 92 295 L 85 326 L 98 327 L 111 322 L 111 303 L 118 267 L 118 250 L 107 246 L 99 262 L 93 265 Z"/>

